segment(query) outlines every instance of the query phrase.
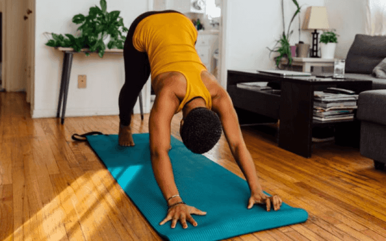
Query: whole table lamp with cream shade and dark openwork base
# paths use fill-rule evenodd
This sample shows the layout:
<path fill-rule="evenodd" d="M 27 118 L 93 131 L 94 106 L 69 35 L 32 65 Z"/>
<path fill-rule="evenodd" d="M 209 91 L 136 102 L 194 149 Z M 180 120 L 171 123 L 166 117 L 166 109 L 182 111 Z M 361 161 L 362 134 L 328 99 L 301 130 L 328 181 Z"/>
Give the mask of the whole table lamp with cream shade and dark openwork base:
<path fill-rule="evenodd" d="M 314 30 L 312 32 L 312 51 L 310 57 L 319 58 L 318 56 L 318 31 L 328 30 L 329 19 L 325 7 L 308 7 L 303 21 L 303 30 Z"/>

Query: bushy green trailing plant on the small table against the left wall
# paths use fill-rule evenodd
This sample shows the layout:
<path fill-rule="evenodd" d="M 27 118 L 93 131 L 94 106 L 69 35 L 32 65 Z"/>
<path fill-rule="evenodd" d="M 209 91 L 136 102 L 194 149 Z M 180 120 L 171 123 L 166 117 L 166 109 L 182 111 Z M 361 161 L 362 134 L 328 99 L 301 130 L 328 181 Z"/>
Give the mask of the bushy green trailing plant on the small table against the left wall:
<path fill-rule="evenodd" d="M 90 52 L 98 51 L 102 58 L 106 44 L 107 48 L 123 49 L 126 40 L 126 34 L 129 30 L 123 24 L 123 18 L 120 17 L 120 11 L 107 12 L 106 0 L 100 1 L 101 7 L 91 7 L 89 14 L 84 16 L 78 14 L 73 16 L 72 22 L 81 24 L 78 28 L 80 36 L 75 37 L 72 34 L 55 34 L 51 33 L 50 39 L 46 45 L 50 47 L 69 47 L 76 52 L 82 48 L 88 48 Z M 107 39 L 107 41 L 106 41 Z M 90 54 L 86 52 L 86 55 Z"/>

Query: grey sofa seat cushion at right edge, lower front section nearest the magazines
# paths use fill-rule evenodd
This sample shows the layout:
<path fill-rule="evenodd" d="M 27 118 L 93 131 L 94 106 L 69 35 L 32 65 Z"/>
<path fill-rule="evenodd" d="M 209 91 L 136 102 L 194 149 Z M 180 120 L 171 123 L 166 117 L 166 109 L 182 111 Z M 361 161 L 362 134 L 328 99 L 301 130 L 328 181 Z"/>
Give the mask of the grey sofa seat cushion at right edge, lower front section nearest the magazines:
<path fill-rule="evenodd" d="M 357 118 L 361 121 L 386 125 L 386 90 L 359 93 Z"/>

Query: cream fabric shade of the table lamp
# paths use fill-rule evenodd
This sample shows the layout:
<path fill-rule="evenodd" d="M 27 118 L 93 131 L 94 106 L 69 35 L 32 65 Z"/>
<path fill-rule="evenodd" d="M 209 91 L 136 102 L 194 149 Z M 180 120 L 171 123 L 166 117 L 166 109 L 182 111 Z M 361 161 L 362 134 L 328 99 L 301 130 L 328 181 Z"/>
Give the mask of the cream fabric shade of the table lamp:
<path fill-rule="evenodd" d="M 330 29 L 325 7 L 308 7 L 303 21 L 303 30 Z"/>

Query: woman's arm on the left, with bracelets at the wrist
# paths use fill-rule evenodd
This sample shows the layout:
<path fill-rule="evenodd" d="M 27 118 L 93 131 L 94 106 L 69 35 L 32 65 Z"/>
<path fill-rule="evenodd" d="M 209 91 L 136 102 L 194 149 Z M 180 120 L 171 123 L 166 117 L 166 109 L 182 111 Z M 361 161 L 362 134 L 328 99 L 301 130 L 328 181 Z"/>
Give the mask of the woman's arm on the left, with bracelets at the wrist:
<path fill-rule="evenodd" d="M 179 194 L 168 154 L 171 119 L 178 105 L 179 101 L 172 91 L 164 89 L 157 94 L 149 117 L 150 159 L 158 186 L 169 206 L 167 216 L 160 225 L 171 220 L 171 228 L 175 228 L 180 220 L 183 228 L 187 228 L 186 220 L 197 226 L 191 214 L 205 215 L 206 213 L 195 207 L 178 204 L 182 202 L 179 196 L 170 198 Z"/>

